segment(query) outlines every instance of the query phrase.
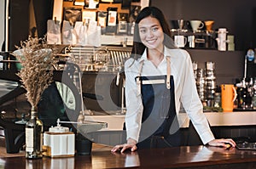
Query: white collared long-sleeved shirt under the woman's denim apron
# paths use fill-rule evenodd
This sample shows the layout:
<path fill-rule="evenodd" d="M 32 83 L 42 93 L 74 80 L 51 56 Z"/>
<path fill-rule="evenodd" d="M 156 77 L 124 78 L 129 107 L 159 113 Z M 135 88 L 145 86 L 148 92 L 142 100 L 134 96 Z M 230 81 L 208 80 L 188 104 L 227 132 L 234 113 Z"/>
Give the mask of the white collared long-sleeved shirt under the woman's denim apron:
<path fill-rule="evenodd" d="M 144 51 L 140 59 L 128 59 L 125 62 L 125 100 L 127 109 L 125 127 L 127 138 L 133 138 L 138 141 L 142 125 L 143 103 L 141 96 L 137 94 L 138 88 L 135 81 L 136 76 L 139 75 L 140 63 L 143 60 L 141 76 L 166 75 L 166 57 L 171 58 L 171 75 L 175 86 L 177 115 L 181 104 L 183 104 L 183 108 L 193 122 L 203 144 L 207 144 L 214 139 L 214 136 L 208 125 L 207 117 L 203 114 L 201 100 L 195 86 L 195 76 L 190 55 L 183 49 L 166 47 L 164 59 L 157 67 L 147 59 L 147 50 Z"/>

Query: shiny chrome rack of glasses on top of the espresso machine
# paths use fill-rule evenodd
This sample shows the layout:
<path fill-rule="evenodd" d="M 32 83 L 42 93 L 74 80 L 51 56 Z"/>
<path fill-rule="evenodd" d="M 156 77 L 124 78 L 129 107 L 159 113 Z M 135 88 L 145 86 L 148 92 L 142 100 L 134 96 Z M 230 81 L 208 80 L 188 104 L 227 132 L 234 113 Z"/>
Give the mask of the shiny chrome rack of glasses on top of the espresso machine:
<path fill-rule="evenodd" d="M 68 47 L 67 61 L 79 65 L 82 71 L 120 71 L 131 48 L 124 47 Z"/>

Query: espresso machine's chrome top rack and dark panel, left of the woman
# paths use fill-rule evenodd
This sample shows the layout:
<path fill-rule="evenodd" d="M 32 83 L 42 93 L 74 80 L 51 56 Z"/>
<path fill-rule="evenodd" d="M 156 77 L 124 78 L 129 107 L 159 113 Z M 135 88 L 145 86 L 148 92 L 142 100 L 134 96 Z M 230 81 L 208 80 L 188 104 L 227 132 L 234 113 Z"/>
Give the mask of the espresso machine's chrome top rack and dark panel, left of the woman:
<path fill-rule="evenodd" d="M 55 59 L 79 66 L 81 84 L 78 74 L 73 76 L 73 82 L 82 93 L 83 112 L 91 115 L 125 112 L 124 63 L 130 57 L 131 48 L 70 46 L 63 53 Z M 67 65 L 56 65 L 56 70 L 67 70 Z"/>

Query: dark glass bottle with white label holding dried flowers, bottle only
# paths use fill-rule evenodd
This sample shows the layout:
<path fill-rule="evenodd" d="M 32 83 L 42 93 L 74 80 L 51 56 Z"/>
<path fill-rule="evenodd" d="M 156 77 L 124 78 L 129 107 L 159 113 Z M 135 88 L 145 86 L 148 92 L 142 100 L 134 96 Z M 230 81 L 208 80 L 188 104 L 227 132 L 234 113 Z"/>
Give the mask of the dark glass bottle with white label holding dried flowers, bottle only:
<path fill-rule="evenodd" d="M 38 119 L 38 110 L 32 106 L 31 118 L 26 122 L 26 158 L 43 157 L 43 122 Z"/>

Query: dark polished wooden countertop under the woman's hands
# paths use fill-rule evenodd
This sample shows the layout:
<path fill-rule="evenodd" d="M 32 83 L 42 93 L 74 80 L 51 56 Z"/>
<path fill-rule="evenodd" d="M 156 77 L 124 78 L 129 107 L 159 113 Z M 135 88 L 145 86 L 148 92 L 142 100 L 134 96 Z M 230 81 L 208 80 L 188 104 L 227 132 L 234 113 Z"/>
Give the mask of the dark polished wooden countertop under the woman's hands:
<path fill-rule="evenodd" d="M 26 160 L 25 156 L 0 157 L 0 168 L 255 168 L 256 151 L 206 146 L 169 149 L 139 149 L 124 154 L 111 153 L 111 147 L 93 149 L 91 155 L 70 158 Z"/>

